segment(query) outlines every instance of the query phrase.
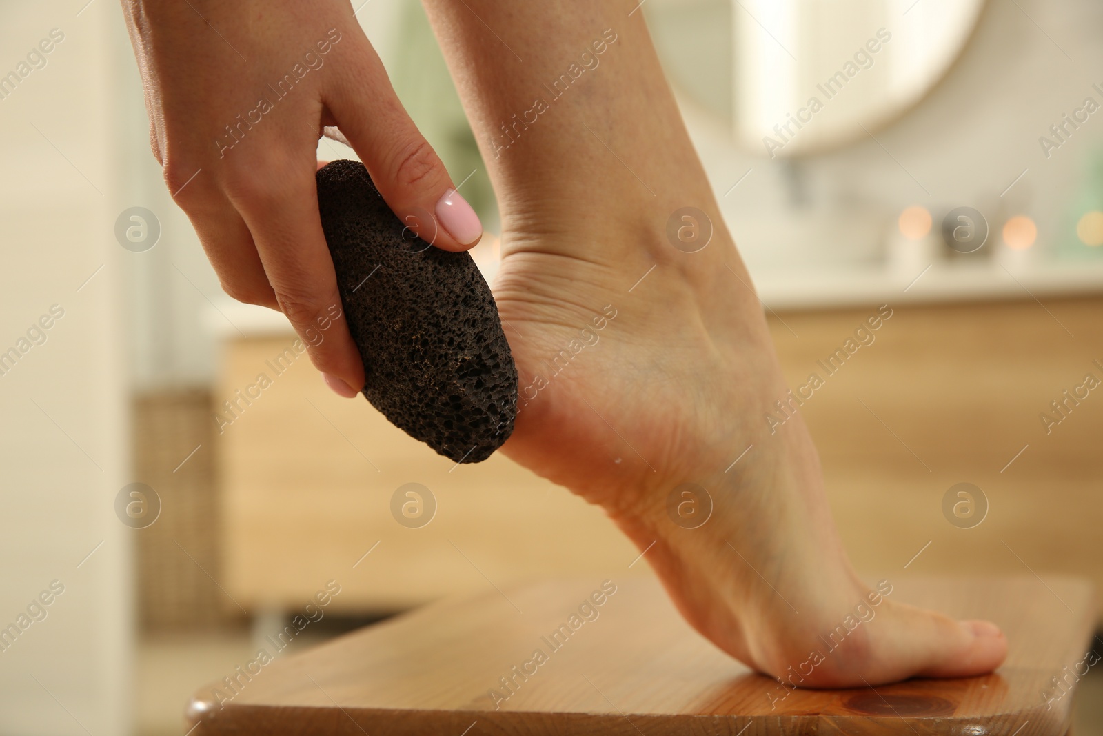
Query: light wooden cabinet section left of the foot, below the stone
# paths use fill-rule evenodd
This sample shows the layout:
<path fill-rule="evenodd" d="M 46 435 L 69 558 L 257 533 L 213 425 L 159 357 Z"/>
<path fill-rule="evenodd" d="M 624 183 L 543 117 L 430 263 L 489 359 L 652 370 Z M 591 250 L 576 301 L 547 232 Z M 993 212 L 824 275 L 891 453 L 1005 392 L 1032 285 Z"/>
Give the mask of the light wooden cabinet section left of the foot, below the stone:
<path fill-rule="evenodd" d="M 599 508 L 501 455 L 457 466 L 363 397 L 333 395 L 306 353 L 277 363 L 293 341 L 227 343 L 215 390 L 216 404 L 239 407 L 223 412 L 233 422 L 215 437 L 219 582 L 250 612 L 302 609 L 331 579 L 334 609 L 386 611 L 517 578 L 647 574 L 642 562 L 628 568 L 639 552 Z M 406 483 L 436 500 L 425 526 L 392 514 Z"/>

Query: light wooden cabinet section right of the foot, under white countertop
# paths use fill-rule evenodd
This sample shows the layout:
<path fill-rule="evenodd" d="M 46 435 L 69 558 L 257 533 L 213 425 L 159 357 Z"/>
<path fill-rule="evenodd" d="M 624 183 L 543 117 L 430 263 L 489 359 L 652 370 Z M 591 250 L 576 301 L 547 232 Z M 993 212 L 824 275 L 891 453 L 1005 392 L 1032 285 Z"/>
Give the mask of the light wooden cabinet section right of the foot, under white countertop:
<path fill-rule="evenodd" d="M 1051 402 L 1086 374 L 1103 381 L 1103 300 L 892 309 L 875 342 L 801 407 L 858 569 L 902 572 L 930 542 L 909 573 L 1075 573 L 1103 584 L 1103 385 L 1049 431 L 1040 419 L 1057 417 Z M 790 385 L 875 311 L 771 318 Z M 943 514 L 959 482 L 987 498 L 972 529 Z"/>

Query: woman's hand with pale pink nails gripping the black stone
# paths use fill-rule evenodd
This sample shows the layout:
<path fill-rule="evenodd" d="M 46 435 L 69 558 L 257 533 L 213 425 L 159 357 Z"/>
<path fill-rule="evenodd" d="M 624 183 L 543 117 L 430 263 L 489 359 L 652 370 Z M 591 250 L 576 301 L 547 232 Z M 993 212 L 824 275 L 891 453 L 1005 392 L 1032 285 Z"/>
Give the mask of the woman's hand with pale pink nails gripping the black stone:
<path fill-rule="evenodd" d="M 153 156 L 223 289 L 282 311 L 325 382 L 364 385 L 318 214 L 315 150 L 338 126 L 379 193 L 437 247 L 478 215 L 395 95 L 347 0 L 124 0 Z"/>

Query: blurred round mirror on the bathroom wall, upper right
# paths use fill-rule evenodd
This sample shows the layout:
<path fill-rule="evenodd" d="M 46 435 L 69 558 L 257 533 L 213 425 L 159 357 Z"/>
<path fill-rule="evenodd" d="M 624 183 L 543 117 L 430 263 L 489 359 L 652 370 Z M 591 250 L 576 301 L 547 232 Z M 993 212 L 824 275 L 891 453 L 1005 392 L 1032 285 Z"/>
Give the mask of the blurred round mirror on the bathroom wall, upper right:
<path fill-rule="evenodd" d="M 655 46 L 684 103 L 763 156 L 866 137 L 946 73 L 984 0 L 651 0 Z"/>

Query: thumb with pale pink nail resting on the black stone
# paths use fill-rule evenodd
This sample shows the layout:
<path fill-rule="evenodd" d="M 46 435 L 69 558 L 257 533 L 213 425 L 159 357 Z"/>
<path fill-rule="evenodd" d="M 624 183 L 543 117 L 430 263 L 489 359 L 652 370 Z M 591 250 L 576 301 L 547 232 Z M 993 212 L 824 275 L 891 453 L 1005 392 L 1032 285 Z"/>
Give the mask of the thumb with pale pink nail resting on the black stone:
<path fill-rule="evenodd" d="M 356 74 L 354 84 L 339 79 L 326 107 L 379 194 L 418 237 L 445 250 L 473 247 L 483 232 L 479 215 L 398 100 L 375 51 L 364 45 L 353 52 L 361 57 L 353 66 L 368 66 L 368 73 Z"/>

